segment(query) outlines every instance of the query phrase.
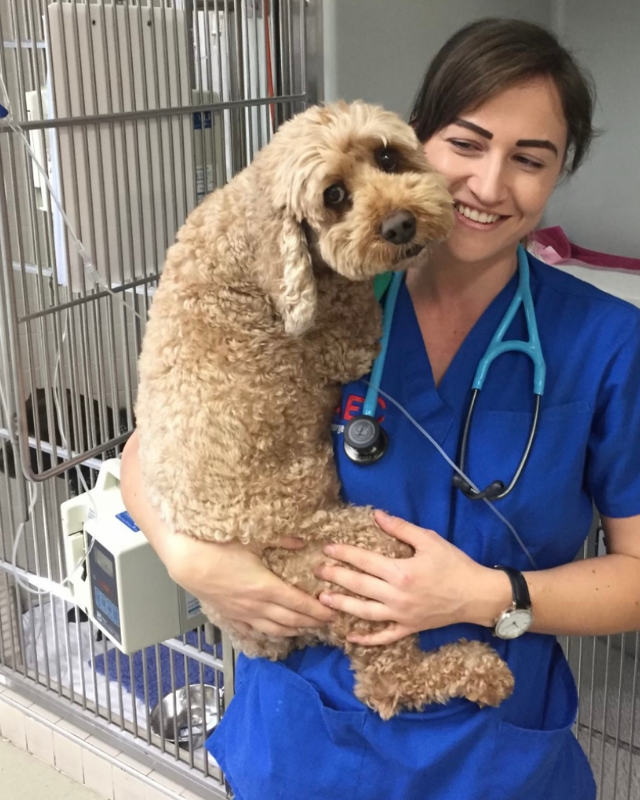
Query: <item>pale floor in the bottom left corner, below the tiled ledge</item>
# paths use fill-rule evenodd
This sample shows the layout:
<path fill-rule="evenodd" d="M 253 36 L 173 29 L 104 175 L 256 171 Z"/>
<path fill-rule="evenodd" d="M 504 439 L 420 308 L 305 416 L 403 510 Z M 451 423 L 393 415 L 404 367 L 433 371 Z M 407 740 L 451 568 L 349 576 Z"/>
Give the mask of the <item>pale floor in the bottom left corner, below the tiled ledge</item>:
<path fill-rule="evenodd" d="M 7 800 L 100 800 L 86 786 L 2 738 L 0 786 Z"/>

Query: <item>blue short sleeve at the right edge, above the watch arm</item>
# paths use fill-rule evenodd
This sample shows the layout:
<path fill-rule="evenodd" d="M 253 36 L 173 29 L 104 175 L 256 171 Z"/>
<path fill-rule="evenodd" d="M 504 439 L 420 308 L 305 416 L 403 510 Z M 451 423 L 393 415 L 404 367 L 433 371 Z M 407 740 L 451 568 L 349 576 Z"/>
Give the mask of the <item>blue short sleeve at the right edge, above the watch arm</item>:
<path fill-rule="evenodd" d="M 587 488 L 608 517 L 640 514 L 640 322 L 611 354 L 588 442 Z"/>

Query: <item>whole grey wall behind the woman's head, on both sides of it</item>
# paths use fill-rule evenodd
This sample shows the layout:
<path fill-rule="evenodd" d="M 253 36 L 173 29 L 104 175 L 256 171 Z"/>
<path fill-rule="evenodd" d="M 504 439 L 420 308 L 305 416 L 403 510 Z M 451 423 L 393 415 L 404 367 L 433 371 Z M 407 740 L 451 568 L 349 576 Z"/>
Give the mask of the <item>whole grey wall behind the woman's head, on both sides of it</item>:
<path fill-rule="evenodd" d="M 555 29 L 596 81 L 603 135 L 543 224 L 584 247 L 640 257 L 639 0 L 323 0 L 324 98 L 361 98 L 407 117 L 440 45 L 487 16 Z"/>

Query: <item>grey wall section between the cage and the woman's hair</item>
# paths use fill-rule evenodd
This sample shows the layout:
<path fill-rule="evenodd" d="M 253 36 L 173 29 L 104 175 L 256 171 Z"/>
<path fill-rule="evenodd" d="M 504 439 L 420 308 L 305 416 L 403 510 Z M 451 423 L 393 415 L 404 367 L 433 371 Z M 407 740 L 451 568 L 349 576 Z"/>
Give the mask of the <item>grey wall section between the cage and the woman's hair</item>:
<path fill-rule="evenodd" d="M 324 98 L 381 103 L 407 117 L 427 65 L 440 46 L 465 23 L 491 16 L 550 27 L 554 3 L 323 0 Z"/>

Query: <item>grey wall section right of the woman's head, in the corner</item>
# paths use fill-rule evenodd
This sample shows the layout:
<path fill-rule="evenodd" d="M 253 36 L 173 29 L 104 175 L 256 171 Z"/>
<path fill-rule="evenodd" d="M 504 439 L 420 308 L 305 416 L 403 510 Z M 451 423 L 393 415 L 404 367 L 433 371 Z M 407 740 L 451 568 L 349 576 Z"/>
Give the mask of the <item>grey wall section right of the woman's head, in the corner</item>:
<path fill-rule="evenodd" d="M 545 221 L 584 247 L 640 258 L 640 2 L 560 0 L 557 8 L 558 33 L 596 81 L 603 134 Z"/>

